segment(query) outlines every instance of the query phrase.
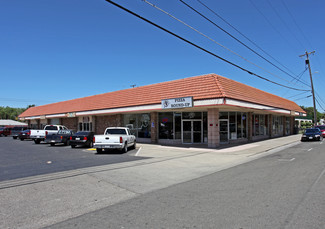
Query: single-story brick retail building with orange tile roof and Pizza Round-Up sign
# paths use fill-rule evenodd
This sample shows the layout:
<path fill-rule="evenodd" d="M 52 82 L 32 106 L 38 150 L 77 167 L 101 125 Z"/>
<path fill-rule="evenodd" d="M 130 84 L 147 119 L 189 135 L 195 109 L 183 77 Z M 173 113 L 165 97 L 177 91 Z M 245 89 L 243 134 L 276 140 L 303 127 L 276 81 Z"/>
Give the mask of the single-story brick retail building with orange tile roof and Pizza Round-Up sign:
<path fill-rule="evenodd" d="M 294 134 L 295 117 L 304 115 L 290 100 L 207 74 L 31 107 L 19 117 L 32 128 L 102 134 L 126 126 L 138 142 L 218 147 Z"/>

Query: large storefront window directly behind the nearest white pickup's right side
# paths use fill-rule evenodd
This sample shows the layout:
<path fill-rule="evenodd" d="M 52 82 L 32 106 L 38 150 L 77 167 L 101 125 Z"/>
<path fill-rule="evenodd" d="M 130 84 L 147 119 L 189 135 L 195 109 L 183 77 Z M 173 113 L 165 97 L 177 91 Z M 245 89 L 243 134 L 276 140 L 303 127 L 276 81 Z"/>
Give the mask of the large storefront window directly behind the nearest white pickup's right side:
<path fill-rule="evenodd" d="M 150 138 L 150 114 L 126 114 L 124 115 L 124 125 L 130 129 L 131 134 L 137 138 Z"/>

